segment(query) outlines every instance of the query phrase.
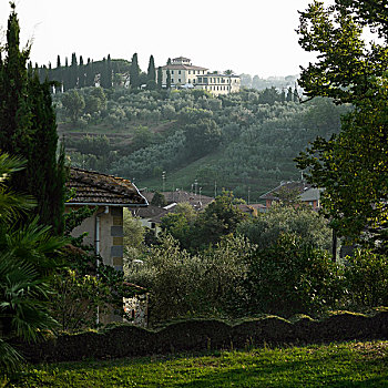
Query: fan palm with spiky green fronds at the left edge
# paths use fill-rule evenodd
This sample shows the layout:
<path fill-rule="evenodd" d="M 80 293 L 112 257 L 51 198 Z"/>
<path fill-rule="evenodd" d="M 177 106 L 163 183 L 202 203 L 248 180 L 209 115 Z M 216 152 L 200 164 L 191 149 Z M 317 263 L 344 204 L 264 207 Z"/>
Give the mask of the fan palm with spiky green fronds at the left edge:
<path fill-rule="evenodd" d="M 45 306 L 51 292 L 47 280 L 57 266 L 53 253 L 64 244 L 37 218 L 25 223 L 33 198 L 7 188 L 9 176 L 22 167 L 20 160 L 0 154 L 0 368 L 9 371 L 22 360 L 10 337 L 37 340 L 55 326 Z"/>

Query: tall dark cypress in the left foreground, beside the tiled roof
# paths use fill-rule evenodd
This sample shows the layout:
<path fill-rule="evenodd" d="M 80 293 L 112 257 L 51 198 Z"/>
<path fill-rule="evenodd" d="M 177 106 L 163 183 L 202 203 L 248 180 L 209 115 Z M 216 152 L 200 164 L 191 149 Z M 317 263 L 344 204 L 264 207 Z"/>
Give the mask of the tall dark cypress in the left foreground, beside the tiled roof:
<path fill-rule="evenodd" d="M 57 159 L 57 124 L 49 82 L 27 70 L 30 48 L 19 49 L 19 20 L 8 20 L 6 58 L 0 65 L 0 149 L 27 160 L 25 170 L 12 176 L 11 187 L 33 195 L 40 223 L 62 231 L 64 152 Z"/>

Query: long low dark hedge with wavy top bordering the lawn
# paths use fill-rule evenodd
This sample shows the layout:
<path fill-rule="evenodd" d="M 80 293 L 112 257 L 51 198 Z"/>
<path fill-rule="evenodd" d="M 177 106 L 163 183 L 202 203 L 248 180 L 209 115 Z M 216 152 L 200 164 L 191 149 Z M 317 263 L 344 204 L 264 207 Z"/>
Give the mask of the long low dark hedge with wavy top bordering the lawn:
<path fill-rule="evenodd" d="M 318 344 L 351 339 L 386 339 L 388 312 L 372 316 L 353 313 L 323 320 L 295 321 L 276 316 L 231 326 L 221 320 L 193 319 L 160 330 L 120 325 L 101 333 L 60 335 L 38 344 L 16 344 L 30 363 L 78 361 L 135 357 L 174 351 L 244 348 L 263 344 Z"/>

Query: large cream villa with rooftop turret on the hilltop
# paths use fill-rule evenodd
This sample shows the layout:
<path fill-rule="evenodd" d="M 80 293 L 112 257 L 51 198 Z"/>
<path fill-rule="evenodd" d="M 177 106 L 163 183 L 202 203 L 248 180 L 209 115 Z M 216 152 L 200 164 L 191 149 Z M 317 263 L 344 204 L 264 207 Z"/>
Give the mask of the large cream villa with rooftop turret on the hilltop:
<path fill-rule="evenodd" d="M 203 89 L 214 95 L 237 93 L 241 80 L 235 74 L 211 73 L 207 68 L 195 67 L 188 58 L 174 58 L 171 63 L 162 67 L 162 84 L 165 86 L 167 71 L 171 74 L 173 88 Z"/>

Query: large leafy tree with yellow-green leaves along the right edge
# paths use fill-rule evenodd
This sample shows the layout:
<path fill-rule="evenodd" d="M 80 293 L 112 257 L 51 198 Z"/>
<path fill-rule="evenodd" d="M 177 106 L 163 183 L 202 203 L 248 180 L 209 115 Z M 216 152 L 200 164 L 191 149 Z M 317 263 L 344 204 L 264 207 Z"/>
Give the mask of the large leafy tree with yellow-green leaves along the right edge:
<path fill-rule="evenodd" d="M 341 132 L 318 137 L 297 159 L 316 186 L 325 187 L 324 212 L 339 235 L 351 241 L 387 239 L 388 219 L 388 10 L 381 1 L 314 1 L 300 12 L 299 43 L 318 52 L 302 69 L 300 86 L 309 99 L 350 102 Z M 379 32 L 366 42 L 363 28 Z"/>

